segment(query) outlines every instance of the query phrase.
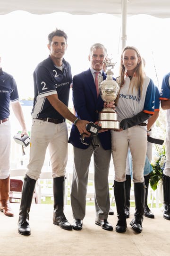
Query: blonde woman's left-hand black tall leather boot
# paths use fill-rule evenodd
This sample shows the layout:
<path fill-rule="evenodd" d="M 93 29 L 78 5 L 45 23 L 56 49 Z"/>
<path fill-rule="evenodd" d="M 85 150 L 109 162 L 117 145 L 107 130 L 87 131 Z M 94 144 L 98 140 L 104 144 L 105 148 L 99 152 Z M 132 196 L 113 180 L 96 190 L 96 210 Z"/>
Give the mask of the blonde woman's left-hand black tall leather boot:
<path fill-rule="evenodd" d="M 114 181 L 114 196 L 118 214 L 116 231 L 119 233 L 123 233 L 127 229 L 127 218 L 125 214 L 125 182 Z"/>

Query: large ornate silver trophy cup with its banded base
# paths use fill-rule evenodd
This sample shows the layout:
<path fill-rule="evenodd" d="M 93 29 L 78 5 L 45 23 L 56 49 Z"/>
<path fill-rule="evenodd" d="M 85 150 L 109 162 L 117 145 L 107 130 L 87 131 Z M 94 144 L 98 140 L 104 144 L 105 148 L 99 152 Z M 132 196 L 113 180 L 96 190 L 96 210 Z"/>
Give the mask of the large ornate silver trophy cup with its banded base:
<path fill-rule="evenodd" d="M 111 101 L 116 99 L 119 93 L 120 77 L 117 77 L 116 81 L 114 81 L 112 78 L 113 72 L 111 69 L 113 69 L 115 63 L 112 63 L 111 59 L 109 58 L 105 63 L 107 78 L 102 82 L 99 80 L 99 93 L 102 97 L 102 100 L 109 104 Z M 118 114 L 116 110 L 110 108 L 102 109 L 102 111 L 99 112 L 98 122 L 102 129 L 119 129 Z"/>

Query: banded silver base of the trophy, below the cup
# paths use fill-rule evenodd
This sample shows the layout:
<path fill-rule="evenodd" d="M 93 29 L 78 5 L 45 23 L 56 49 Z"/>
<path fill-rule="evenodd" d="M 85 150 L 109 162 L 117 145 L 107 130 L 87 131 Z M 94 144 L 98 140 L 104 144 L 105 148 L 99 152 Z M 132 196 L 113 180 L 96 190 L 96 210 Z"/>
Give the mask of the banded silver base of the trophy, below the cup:
<path fill-rule="evenodd" d="M 99 112 L 99 125 L 102 129 L 119 130 L 118 114 L 113 109 L 102 109 Z"/>

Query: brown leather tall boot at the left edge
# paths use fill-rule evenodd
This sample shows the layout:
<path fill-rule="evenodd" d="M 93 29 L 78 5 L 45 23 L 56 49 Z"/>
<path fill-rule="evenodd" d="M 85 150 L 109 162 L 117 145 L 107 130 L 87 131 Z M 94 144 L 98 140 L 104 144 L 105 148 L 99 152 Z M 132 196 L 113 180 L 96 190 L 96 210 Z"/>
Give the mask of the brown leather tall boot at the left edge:
<path fill-rule="evenodd" d="M 13 217 L 14 213 L 9 203 L 10 178 L 0 180 L 0 211 L 8 217 Z"/>

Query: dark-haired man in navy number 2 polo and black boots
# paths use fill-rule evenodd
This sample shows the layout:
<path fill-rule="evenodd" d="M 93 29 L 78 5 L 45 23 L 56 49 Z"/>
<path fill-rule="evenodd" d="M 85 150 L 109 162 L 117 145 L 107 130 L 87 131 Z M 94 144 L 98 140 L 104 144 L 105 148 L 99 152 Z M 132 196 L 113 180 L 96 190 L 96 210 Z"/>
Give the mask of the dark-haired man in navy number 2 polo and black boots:
<path fill-rule="evenodd" d="M 18 232 L 30 235 L 29 211 L 36 180 L 40 177 L 48 147 L 53 177 L 53 224 L 70 230 L 72 225 L 64 215 L 65 169 L 68 160 L 68 129 L 65 119 L 73 122 L 79 133 L 87 132 L 88 121 L 79 120 L 68 110 L 71 67 L 63 58 L 67 35 L 56 29 L 48 36 L 50 55 L 34 71 L 34 105 L 30 138 L 30 159 L 23 184 L 19 210 Z"/>

